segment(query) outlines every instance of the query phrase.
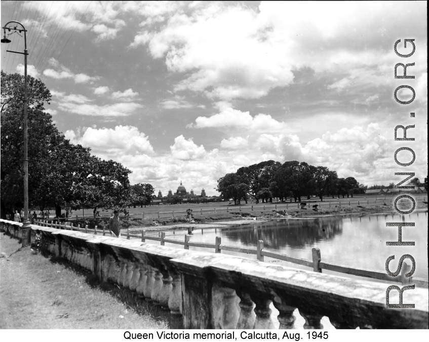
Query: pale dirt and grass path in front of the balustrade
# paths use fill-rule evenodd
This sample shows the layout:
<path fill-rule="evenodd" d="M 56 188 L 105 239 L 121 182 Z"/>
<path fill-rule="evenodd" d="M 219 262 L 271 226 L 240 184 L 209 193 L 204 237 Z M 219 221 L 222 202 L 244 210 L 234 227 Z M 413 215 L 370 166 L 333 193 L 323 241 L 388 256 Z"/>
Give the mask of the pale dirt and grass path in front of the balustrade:
<path fill-rule="evenodd" d="M 134 310 L 119 300 L 121 290 L 102 290 L 4 233 L 0 253 L 0 329 L 167 328 L 165 313 L 150 313 L 144 303 Z"/>

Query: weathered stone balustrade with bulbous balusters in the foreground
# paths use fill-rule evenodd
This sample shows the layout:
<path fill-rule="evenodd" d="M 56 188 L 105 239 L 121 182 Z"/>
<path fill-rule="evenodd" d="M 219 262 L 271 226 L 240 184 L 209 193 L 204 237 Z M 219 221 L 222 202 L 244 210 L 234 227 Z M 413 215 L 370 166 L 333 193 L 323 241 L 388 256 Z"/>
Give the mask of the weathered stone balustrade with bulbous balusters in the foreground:
<path fill-rule="evenodd" d="M 2 230 L 12 231 L 2 220 Z M 386 309 L 387 284 L 271 265 L 219 253 L 196 252 L 136 240 L 32 225 L 48 250 L 142 299 L 168 309 L 183 328 L 271 329 L 270 303 L 280 329 L 428 328 L 427 290 L 405 291 L 414 309 Z M 14 231 L 14 230 L 13 230 Z M 398 302 L 392 291 L 391 303 Z"/>

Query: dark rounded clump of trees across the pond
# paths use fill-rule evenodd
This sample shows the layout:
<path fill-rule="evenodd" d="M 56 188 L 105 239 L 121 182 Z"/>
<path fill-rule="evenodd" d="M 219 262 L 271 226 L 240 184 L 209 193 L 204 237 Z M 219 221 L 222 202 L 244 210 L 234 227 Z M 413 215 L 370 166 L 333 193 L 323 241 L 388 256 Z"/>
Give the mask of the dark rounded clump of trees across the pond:
<path fill-rule="evenodd" d="M 236 173 L 229 173 L 218 181 L 217 191 L 224 199 L 232 198 L 235 204 L 249 198 L 256 203 L 272 202 L 272 198 L 285 201 L 293 197 L 295 201 L 309 199 L 317 195 L 349 197 L 365 193 L 364 187 L 355 178 L 338 178 L 336 171 L 326 166 L 313 166 L 306 162 L 262 161 L 240 167 Z"/>

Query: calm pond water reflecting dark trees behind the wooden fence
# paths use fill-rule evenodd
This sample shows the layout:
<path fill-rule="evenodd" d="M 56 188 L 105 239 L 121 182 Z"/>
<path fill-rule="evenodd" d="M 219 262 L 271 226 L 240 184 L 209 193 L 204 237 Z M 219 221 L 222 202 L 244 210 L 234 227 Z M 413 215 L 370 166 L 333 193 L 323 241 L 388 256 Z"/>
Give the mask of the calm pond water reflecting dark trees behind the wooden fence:
<path fill-rule="evenodd" d="M 386 227 L 386 222 L 415 222 L 415 227 L 402 228 L 402 241 L 414 241 L 415 246 L 386 246 L 387 241 L 398 241 L 398 228 Z M 186 231 L 168 232 L 169 238 L 178 238 Z M 236 247 L 256 247 L 262 240 L 264 248 L 288 256 L 311 260 L 311 248 L 318 247 L 322 261 L 385 271 L 385 261 L 395 255 L 390 262 L 390 270 L 396 271 L 403 254 L 411 254 L 416 261 L 413 277 L 428 278 L 427 272 L 427 212 L 400 216 L 379 214 L 362 217 L 321 217 L 313 219 L 281 219 L 269 222 L 254 222 L 248 225 L 225 228 L 196 229 L 190 236 L 193 242 L 215 242 L 215 236 L 222 238 L 222 245 Z M 167 244 L 166 246 L 177 246 Z M 213 251 L 205 248 L 193 250 Z M 256 255 L 222 251 L 256 259 Z M 308 267 L 265 257 L 265 261 L 309 270 Z M 335 274 L 324 270 L 326 273 Z M 337 273 L 340 275 L 340 273 Z M 352 277 L 342 274 L 342 276 Z M 363 279 L 360 277 L 360 279 Z M 369 280 L 368 278 L 365 278 Z"/>

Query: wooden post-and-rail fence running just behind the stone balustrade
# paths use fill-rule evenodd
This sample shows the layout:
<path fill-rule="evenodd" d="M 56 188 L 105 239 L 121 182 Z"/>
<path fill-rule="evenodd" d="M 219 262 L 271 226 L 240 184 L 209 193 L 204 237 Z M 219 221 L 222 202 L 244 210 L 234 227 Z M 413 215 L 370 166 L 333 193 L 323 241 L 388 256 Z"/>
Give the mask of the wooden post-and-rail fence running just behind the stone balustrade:
<path fill-rule="evenodd" d="M 67 225 L 66 223 L 61 224 L 58 223 L 48 223 L 47 221 L 43 220 L 37 220 L 37 225 L 45 226 L 45 227 L 53 227 L 57 229 L 64 229 L 64 230 L 77 230 L 82 231 L 85 233 L 91 233 L 91 234 L 99 234 L 102 236 L 110 235 L 109 232 L 105 230 L 103 227 L 102 229 L 97 229 L 97 226 L 95 226 L 95 229 L 89 229 L 88 225 L 85 226 L 85 228 L 81 228 L 80 225 L 77 225 L 77 227 L 74 227 L 72 223 L 70 225 Z M 192 234 L 192 227 L 188 226 L 188 234 Z M 423 278 L 406 278 L 405 275 L 411 270 L 411 264 L 408 260 L 404 260 L 403 267 L 401 269 L 401 274 L 396 277 L 391 277 L 386 274 L 385 271 L 379 271 L 374 269 L 368 269 L 368 268 L 358 268 L 358 267 L 351 267 L 346 265 L 340 265 L 335 264 L 331 262 L 324 262 L 321 260 L 321 251 L 319 248 L 313 248 L 312 249 L 312 260 L 306 260 L 302 258 L 292 257 L 288 256 L 286 254 L 278 253 L 278 252 L 271 252 L 266 249 L 264 249 L 264 242 L 259 240 L 257 241 L 255 248 L 243 248 L 243 247 L 236 247 L 236 246 L 227 246 L 222 245 L 221 243 L 221 237 L 216 236 L 215 243 L 203 243 L 203 242 L 192 242 L 189 241 L 189 235 L 184 235 L 183 241 L 179 241 L 177 239 L 173 238 L 166 238 L 165 232 L 159 232 L 159 236 L 153 236 L 146 234 L 146 231 L 143 229 L 140 235 L 136 234 L 130 234 L 130 230 L 128 229 L 127 233 L 121 233 L 121 236 L 125 236 L 128 240 L 132 239 L 141 239 L 141 242 L 145 242 L 146 240 L 151 241 L 159 241 L 161 246 L 165 246 L 165 243 L 175 244 L 175 245 L 181 245 L 184 246 L 184 249 L 189 249 L 189 247 L 201 247 L 201 248 L 209 248 L 214 249 L 215 253 L 221 253 L 221 251 L 230 251 L 230 252 L 237 252 L 237 253 L 246 253 L 246 254 L 255 254 L 257 260 L 264 261 L 264 257 L 269 257 L 272 259 L 287 261 L 294 264 L 303 265 L 309 268 L 312 268 L 314 271 L 322 273 L 322 269 L 339 272 L 339 273 L 345 273 L 348 275 L 358 276 L 358 277 L 365 277 L 365 278 L 371 278 L 371 279 L 377 279 L 387 282 L 396 282 L 401 283 L 402 285 L 408 285 L 408 284 L 415 284 L 418 287 L 423 288 L 429 288 L 429 281 L 423 279 Z"/>

